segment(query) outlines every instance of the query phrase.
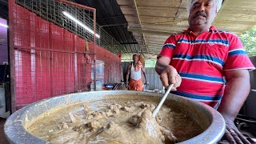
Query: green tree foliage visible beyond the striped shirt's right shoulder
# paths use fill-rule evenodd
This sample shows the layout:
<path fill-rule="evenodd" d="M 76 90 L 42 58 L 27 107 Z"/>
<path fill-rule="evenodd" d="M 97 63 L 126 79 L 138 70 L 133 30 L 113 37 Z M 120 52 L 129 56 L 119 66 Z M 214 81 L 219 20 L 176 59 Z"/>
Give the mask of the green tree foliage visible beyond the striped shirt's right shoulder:
<path fill-rule="evenodd" d="M 246 48 L 246 53 L 251 56 L 256 56 L 256 26 L 250 28 L 245 33 L 241 34 L 239 38 L 243 46 Z"/>

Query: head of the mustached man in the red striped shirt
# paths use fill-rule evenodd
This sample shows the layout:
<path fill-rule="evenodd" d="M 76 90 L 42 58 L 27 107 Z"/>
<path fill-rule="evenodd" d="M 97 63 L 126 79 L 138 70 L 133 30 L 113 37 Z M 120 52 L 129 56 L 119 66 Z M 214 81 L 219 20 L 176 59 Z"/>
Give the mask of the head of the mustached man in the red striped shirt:
<path fill-rule="evenodd" d="M 190 9 L 189 24 L 190 28 L 210 27 L 217 14 L 217 5 L 215 0 L 195 0 Z"/>

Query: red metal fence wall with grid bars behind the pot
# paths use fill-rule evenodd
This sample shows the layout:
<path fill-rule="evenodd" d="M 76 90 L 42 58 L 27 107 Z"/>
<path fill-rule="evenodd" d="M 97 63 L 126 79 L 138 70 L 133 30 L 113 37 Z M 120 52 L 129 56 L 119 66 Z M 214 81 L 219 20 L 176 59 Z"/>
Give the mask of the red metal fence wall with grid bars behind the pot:
<path fill-rule="evenodd" d="M 12 111 L 59 94 L 90 90 L 94 44 L 9 1 Z M 86 42 L 90 50 L 86 50 Z M 96 46 L 105 82 L 120 82 L 121 59 Z"/>

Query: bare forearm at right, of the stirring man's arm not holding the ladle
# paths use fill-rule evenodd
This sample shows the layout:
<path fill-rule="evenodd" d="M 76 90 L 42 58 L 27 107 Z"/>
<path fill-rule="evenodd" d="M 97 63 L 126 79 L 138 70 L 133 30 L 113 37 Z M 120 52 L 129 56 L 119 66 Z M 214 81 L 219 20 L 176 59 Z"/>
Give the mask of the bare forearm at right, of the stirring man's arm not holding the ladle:
<path fill-rule="evenodd" d="M 226 119 L 234 121 L 250 91 L 250 77 L 232 78 L 226 83 L 224 96 L 218 111 Z"/>

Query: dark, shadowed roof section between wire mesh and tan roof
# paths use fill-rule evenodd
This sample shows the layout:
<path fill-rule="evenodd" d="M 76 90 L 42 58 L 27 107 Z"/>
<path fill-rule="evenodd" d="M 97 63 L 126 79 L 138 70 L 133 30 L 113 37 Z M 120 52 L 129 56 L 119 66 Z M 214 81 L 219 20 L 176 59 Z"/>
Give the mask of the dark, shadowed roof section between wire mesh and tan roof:
<path fill-rule="evenodd" d="M 128 23 L 116 0 L 74 0 L 74 2 L 96 8 L 98 25 L 102 26 L 122 46 L 125 46 L 126 50 L 123 51 L 126 53 L 138 52 L 138 42 L 127 30 Z"/>

